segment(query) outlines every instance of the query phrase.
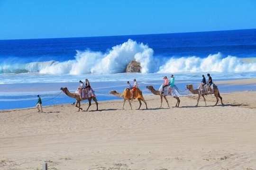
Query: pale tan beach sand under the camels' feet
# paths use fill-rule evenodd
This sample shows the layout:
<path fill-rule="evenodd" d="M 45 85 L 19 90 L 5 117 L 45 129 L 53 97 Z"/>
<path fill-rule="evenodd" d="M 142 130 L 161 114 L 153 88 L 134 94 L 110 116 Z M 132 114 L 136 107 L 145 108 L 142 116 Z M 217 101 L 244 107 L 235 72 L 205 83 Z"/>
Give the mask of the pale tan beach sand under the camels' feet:
<path fill-rule="evenodd" d="M 160 96 L 146 95 L 148 110 L 128 102 L 121 110 L 122 100 L 100 102 L 100 111 L 93 102 L 89 112 L 71 104 L 1 110 L 0 169 L 256 170 L 256 92 L 220 95 L 223 106 L 208 95 L 195 107 L 189 95 L 180 108 L 164 101 L 159 109 Z"/>

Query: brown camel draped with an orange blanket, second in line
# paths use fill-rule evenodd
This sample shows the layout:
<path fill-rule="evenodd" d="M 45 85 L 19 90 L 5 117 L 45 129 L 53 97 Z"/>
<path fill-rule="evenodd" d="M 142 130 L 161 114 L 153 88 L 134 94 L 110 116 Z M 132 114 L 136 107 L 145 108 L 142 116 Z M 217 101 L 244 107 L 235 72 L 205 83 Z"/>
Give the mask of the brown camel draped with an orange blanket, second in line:
<path fill-rule="evenodd" d="M 131 107 L 131 102 L 130 102 L 130 99 L 131 99 L 131 96 L 132 96 L 131 90 L 129 90 L 129 89 L 126 88 L 126 89 L 123 91 L 123 94 L 118 93 L 118 92 L 115 91 L 115 90 L 112 90 L 112 91 L 110 91 L 110 94 L 113 94 L 113 95 L 115 95 L 115 96 L 118 96 L 118 97 L 121 97 L 121 98 L 124 99 L 123 110 L 124 110 L 124 104 L 125 104 L 125 102 L 126 102 L 127 100 L 128 100 L 128 102 L 129 102 L 129 104 L 130 104 L 130 107 Z M 140 106 L 141 106 L 141 101 L 143 101 L 143 102 L 146 104 L 146 101 L 145 101 L 144 98 L 143 98 L 142 92 L 141 92 L 139 89 L 137 89 L 137 95 L 135 95 L 135 98 L 137 98 L 138 101 L 139 101 L 139 108 L 138 108 L 138 110 L 139 110 L 139 109 L 140 109 Z M 146 109 L 147 109 L 147 105 L 146 105 Z M 132 107 L 131 107 L 131 110 L 132 110 Z"/>

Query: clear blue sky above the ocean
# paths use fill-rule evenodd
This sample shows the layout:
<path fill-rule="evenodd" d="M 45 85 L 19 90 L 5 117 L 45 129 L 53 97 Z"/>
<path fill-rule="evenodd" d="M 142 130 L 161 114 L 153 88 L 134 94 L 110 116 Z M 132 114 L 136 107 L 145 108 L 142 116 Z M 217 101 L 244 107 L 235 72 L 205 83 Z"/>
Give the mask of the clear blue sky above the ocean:
<path fill-rule="evenodd" d="M 256 0 L 0 0 L 0 39 L 256 28 Z"/>

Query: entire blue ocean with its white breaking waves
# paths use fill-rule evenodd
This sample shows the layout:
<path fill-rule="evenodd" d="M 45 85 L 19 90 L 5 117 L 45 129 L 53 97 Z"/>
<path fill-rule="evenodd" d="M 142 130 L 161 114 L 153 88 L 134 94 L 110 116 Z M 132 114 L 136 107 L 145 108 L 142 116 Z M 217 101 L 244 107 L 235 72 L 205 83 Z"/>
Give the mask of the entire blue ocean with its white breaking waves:
<path fill-rule="evenodd" d="M 141 73 L 125 73 L 131 60 L 140 62 Z M 109 90 L 122 91 L 133 78 L 148 93 L 145 85 L 158 88 L 165 75 L 174 74 L 183 90 L 207 73 L 213 80 L 256 77 L 256 29 L 0 40 L 0 110 L 33 107 L 37 94 L 43 105 L 74 102 L 64 94 L 55 96 L 61 86 L 74 91 L 85 78 L 99 100 L 110 100 L 117 98 Z M 241 88 L 254 90 L 233 91 Z"/>

